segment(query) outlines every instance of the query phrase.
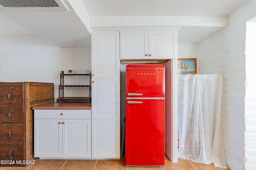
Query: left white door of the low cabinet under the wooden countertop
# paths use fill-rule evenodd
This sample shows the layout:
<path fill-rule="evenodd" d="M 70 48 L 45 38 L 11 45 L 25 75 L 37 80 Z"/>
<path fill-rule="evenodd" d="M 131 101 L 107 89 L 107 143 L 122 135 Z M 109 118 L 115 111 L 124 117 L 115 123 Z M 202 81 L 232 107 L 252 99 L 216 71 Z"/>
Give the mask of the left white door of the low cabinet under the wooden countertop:
<path fill-rule="evenodd" d="M 62 157 L 62 119 L 34 119 L 34 157 Z"/>

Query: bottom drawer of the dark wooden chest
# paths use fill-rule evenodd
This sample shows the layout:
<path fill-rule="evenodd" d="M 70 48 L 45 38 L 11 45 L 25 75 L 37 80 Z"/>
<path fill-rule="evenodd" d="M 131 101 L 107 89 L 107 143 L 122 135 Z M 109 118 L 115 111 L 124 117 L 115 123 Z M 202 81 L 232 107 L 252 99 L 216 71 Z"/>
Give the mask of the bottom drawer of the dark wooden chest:
<path fill-rule="evenodd" d="M 24 166 L 17 164 L 16 160 L 24 160 L 23 144 L 16 143 L 0 143 L 0 160 L 14 160 L 15 164 L 1 164 L 1 166 Z M 7 162 L 6 162 L 7 163 Z"/>

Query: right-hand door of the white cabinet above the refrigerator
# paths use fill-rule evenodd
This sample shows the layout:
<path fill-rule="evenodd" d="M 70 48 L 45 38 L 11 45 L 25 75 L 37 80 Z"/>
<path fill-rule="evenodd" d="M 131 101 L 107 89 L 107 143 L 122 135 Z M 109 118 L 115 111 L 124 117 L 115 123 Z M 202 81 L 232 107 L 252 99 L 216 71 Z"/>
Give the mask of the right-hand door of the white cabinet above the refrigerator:
<path fill-rule="evenodd" d="M 177 59 L 177 31 L 149 31 L 149 59 Z"/>

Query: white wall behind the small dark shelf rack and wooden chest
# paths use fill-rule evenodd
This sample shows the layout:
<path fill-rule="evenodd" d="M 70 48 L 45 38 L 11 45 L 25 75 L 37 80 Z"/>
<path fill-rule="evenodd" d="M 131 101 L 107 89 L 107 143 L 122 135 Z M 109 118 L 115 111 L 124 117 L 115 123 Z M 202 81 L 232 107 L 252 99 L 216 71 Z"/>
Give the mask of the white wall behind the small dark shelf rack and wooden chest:
<path fill-rule="evenodd" d="M 0 51 L 0 82 L 54 83 L 55 102 L 62 70 L 75 69 L 81 74 L 91 70 L 90 48 L 59 48 L 36 35 L 0 35 Z"/>

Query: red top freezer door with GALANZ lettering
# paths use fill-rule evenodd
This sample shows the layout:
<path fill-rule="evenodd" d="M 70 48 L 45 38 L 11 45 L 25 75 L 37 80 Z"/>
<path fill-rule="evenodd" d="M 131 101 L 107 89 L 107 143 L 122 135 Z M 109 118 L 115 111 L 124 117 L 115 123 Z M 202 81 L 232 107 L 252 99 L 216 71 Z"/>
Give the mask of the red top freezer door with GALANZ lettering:
<path fill-rule="evenodd" d="M 150 64 L 146 64 L 150 65 Z M 160 65 L 160 64 L 159 64 Z M 126 67 L 126 97 L 165 97 L 165 68 Z"/>

